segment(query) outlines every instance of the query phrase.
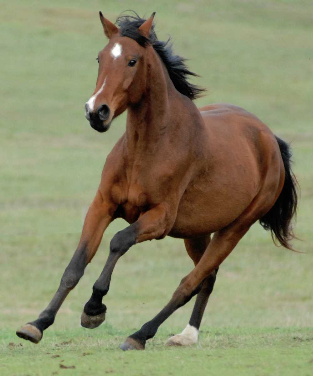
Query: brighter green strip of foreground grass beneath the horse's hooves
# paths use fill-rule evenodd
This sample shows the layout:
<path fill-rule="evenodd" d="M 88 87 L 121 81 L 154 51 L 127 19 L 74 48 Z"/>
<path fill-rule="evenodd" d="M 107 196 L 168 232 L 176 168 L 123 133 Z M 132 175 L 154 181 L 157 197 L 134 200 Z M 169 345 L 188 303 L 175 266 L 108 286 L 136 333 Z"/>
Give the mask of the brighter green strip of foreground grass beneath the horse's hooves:
<path fill-rule="evenodd" d="M 33 349 L 19 341 L 7 346 L 1 374 L 39 376 L 116 374 L 116 375 L 311 375 L 313 332 L 305 329 L 211 328 L 201 332 L 201 343 L 188 348 L 166 348 L 164 331 L 147 345 L 144 352 L 118 352 L 116 346 L 125 331 L 106 324 L 91 335 L 88 329 L 48 334 Z M 9 340 L 9 335 L 8 335 Z M 4 364 L 4 365 L 3 365 Z M 25 367 L 27 364 L 27 368 Z M 21 369 L 26 368 L 26 373 Z"/>

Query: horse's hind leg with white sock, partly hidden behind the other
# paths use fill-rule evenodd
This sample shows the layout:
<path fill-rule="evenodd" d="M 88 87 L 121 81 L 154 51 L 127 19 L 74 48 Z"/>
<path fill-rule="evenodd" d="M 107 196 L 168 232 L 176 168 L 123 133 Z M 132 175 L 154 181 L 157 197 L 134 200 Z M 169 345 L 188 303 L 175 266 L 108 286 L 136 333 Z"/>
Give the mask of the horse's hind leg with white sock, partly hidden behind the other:
<path fill-rule="evenodd" d="M 188 255 L 191 257 L 194 264 L 197 265 L 203 255 L 206 247 L 209 245 L 210 236 L 198 239 L 185 239 L 184 243 Z M 168 346 L 187 346 L 198 342 L 198 331 L 206 309 L 210 294 L 213 291 L 213 286 L 216 279 L 218 268 L 216 268 L 203 282 L 201 290 L 197 295 L 194 309 L 186 328 L 180 334 L 174 335 L 166 342 Z"/>

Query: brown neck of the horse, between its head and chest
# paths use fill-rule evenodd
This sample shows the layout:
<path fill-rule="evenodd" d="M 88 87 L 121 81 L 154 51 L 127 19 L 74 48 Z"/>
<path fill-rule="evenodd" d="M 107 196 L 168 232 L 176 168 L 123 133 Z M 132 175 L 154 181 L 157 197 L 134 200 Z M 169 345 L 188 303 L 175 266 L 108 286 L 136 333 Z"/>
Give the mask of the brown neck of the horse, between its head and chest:
<path fill-rule="evenodd" d="M 182 103 L 160 58 L 154 51 L 150 55 L 145 95 L 138 105 L 127 110 L 126 139 L 131 148 L 151 151 L 175 132 L 174 108 L 177 111 Z"/>

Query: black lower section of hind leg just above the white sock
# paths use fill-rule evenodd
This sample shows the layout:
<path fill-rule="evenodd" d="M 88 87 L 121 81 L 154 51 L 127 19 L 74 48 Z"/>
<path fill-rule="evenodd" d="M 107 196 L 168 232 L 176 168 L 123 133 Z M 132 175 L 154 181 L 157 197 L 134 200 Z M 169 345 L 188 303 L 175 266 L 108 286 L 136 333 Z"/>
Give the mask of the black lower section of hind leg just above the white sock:
<path fill-rule="evenodd" d="M 213 291 L 217 272 L 218 268 L 204 280 L 203 286 L 197 295 L 194 309 L 192 310 L 191 318 L 189 320 L 189 325 L 194 326 L 197 329 L 200 327 L 207 301 L 209 300 L 210 294 Z"/>

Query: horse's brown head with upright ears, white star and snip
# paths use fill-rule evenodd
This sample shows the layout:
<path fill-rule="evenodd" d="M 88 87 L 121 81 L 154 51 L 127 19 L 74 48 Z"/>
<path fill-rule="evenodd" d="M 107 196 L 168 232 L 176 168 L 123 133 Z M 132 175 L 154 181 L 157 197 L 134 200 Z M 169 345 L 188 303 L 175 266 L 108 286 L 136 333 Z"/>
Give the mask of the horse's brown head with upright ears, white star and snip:
<path fill-rule="evenodd" d="M 145 56 L 154 13 L 138 28 L 142 40 L 121 36 L 120 29 L 103 17 L 100 20 L 109 43 L 98 54 L 97 84 L 85 105 L 85 115 L 92 128 L 105 132 L 116 116 L 138 103 L 145 90 Z"/>

